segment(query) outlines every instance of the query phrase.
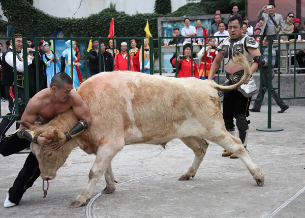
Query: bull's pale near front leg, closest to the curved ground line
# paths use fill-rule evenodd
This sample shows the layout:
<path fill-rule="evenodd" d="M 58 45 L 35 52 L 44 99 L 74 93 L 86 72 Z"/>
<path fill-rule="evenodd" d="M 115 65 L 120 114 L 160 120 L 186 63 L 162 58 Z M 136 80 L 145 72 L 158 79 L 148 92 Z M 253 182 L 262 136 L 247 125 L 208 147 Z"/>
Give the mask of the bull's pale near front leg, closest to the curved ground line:
<path fill-rule="evenodd" d="M 74 202 L 69 207 L 81 207 L 85 205 L 92 196 L 94 187 L 99 179 L 104 174 L 105 170 L 109 168 L 115 154 L 121 150 L 125 145 L 123 143 L 104 144 L 98 148 L 96 160 L 90 169 L 89 181 L 86 188 L 76 197 Z"/>

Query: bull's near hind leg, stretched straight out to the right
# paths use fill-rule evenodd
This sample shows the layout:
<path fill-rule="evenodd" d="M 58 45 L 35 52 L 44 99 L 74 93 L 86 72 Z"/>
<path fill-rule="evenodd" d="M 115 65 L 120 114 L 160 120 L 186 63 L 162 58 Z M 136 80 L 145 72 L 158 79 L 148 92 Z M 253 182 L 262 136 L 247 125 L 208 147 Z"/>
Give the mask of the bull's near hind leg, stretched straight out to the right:
<path fill-rule="evenodd" d="M 220 134 L 220 135 L 219 135 Z M 248 168 L 249 172 L 259 186 L 264 185 L 264 175 L 259 168 L 252 162 L 239 138 L 230 135 L 228 132 L 217 133 L 217 137 L 210 138 L 211 142 L 217 143 L 225 150 L 234 153 Z"/>

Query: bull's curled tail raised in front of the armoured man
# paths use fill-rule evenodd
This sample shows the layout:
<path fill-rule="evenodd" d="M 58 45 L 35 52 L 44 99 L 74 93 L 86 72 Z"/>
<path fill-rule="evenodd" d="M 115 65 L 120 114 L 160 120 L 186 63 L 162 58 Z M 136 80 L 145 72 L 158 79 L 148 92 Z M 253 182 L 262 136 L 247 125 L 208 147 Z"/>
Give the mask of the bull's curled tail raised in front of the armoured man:
<path fill-rule="evenodd" d="M 216 82 L 211 82 L 210 85 L 213 88 L 216 88 L 220 91 L 231 91 L 231 90 L 238 88 L 239 86 L 241 86 L 243 83 L 245 83 L 249 79 L 251 67 L 249 65 L 247 58 L 243 54 L 240 54 L 239 56 L 235 56 L 234 63 L 237 65 L 241 65 L 242 68 L 244 69 L 242 80 L 240 80 L 236 84 L 228 85 L 228 86 L 223 86 L 223 85 L 217 84 Z"/>

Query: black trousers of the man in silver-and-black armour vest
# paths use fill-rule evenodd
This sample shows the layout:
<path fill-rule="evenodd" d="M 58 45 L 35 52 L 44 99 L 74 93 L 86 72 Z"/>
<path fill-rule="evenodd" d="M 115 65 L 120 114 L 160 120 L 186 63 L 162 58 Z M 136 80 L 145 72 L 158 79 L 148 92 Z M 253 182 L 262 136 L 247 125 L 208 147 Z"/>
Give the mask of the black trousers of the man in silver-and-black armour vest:
<path fill-rule="evenodd" d="M 233 129 L 233 118 L 238 114 L 249 116 L 249 106 L 251 97 L 246 98 L 238 90 L 224 92 L 223 100 L 223 118 L 226 129 Z"/>

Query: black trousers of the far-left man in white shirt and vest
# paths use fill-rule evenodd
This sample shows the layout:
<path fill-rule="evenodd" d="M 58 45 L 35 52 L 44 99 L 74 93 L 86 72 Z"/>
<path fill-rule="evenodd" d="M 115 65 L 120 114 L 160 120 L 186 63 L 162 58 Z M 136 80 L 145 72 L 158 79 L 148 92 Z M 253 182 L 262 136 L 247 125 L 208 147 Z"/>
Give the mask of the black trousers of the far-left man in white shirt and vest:
<path fill-rule="evenodd" d="M 15 95 L 14 95 L 14 86 L 12 85 L 5 85 L 4 86 L 5 93 L 8 97 L 9 100 L 9 110 L 10 113 L 7 115 L 12 115 L 16 113 L 16 102 L 15 102 Z M 24 89 L 18 87 L 18 101 L 24 101 Z M 2 140 L 5 137 L 5 133 L 10 129 L 12 124 L 16 120 L 20 120 L 21 116 L 25 110 L 24 104 L 19 104 L 18 105 L 18 116 L 16 117 L 9 117 L 9 118 L 3 118 L 2 121 L 0 122 L 0 140 Z M 19 128 L 19 124 L 16 123 L 16 129 Z"/>

